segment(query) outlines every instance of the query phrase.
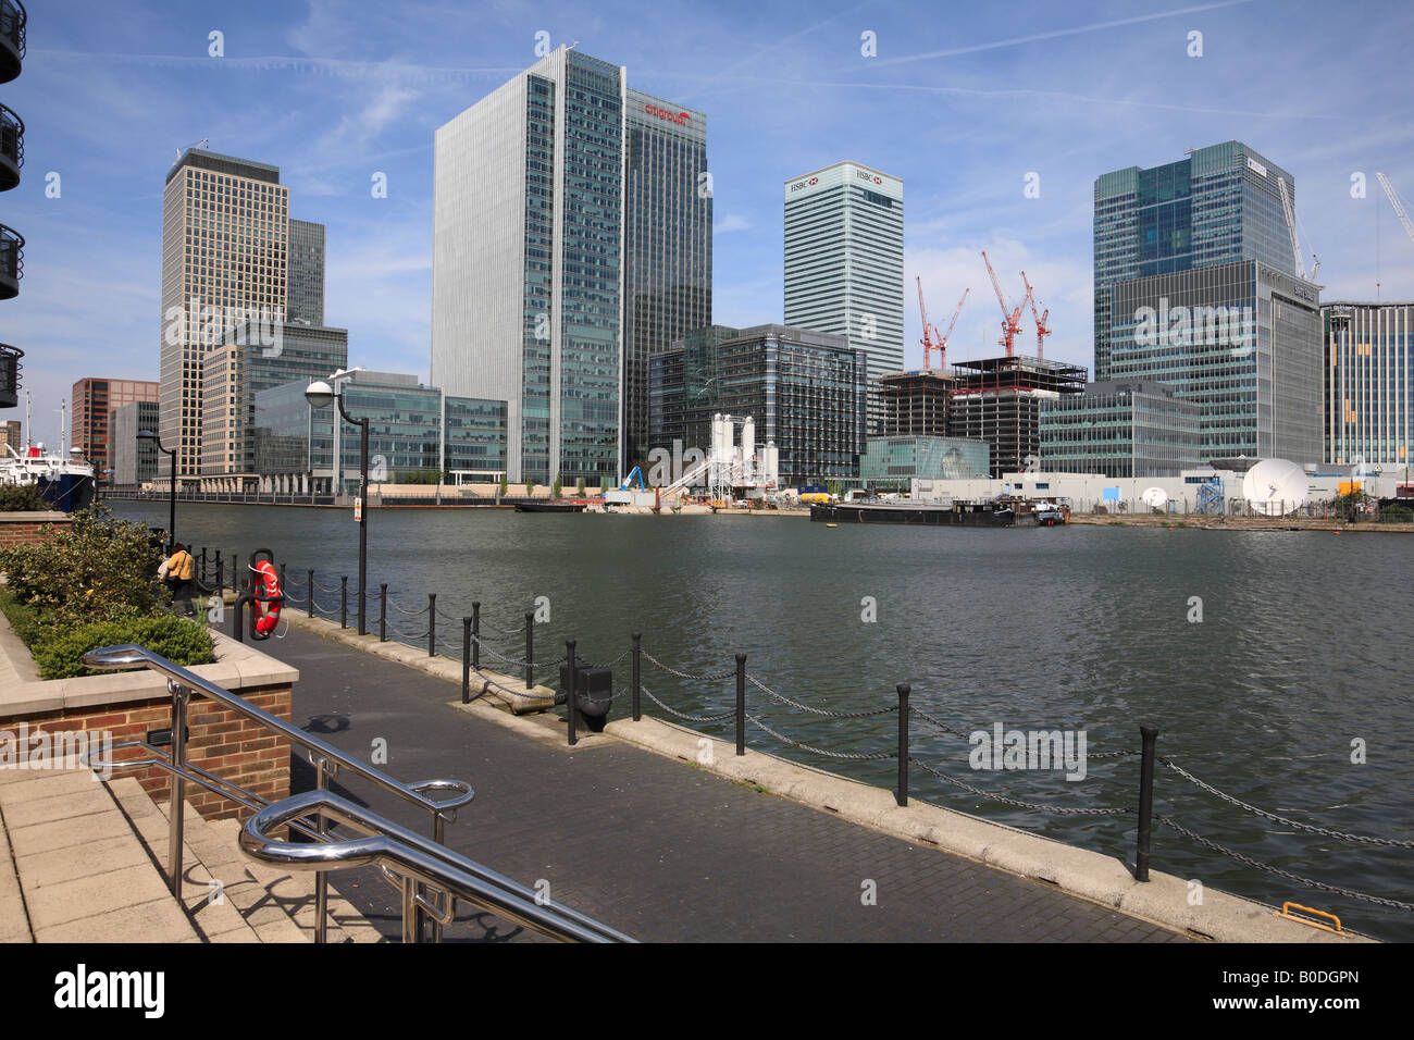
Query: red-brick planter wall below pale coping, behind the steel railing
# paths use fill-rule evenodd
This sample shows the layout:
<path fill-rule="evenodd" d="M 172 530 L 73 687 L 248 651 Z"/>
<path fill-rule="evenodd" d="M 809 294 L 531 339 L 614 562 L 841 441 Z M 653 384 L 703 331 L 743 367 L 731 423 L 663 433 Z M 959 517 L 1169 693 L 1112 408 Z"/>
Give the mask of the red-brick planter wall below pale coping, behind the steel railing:
<path fill-rule="evenodd" d="M 256 707 L 290 722 L 291 688 L 269 686 L 243 691 L 242 696 Z M 0 726 L 17 730 L 20 723 L 28 723 L 30 732 L 75 732 L 83 730 L 113 734 L 113 743 L 141 740 L 148 730 L 171 726 L 171 700 L 167 696 L 154 700 L 133 700 L 120 705 L 99 705 L 61 712 L 42 712 L 30 716 L 13 716 Z M 192 696 L 187 705 L 187 761 L 214 773 L 222 780 L 240 784 L 266 801 L 279 801 L 290 794 L 290 743 L 270 733 L 259 723 L 238 715 L 235 710 Z M 140 749 L 119 751 L 117 761 L 141 757 Z M 143 770 L 115 770 L 117 777 L 137 777 L 143 790 L 154 799 L 165 801 L 171 794 L 171 774 L 147 767 Z M 188 784 L 187 801 L 206 819 L 226 819 L 246 815 L 239 802 L 214 794 L 204 787 Z"/>

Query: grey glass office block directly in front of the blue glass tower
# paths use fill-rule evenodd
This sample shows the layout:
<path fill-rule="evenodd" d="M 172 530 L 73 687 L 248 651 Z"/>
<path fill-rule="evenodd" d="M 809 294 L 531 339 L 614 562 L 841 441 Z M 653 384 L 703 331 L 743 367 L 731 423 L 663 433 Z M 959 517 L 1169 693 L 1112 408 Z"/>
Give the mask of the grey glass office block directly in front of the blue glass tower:
<path fill-rule="evenodd" d="M 1319 287 L 1258 260 L 1110 287 L 1110 378 L 1200 406 L 1200 461 L 1322 457 Z"/>

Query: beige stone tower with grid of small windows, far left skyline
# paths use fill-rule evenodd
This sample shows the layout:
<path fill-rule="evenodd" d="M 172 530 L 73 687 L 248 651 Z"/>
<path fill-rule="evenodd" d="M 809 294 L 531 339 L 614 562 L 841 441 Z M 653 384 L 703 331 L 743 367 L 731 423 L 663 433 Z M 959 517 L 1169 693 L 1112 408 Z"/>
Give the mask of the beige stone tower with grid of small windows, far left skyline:
<path fill-rule="evenodd" d="M 264 163 L 188 149 L 163 192 L 163 447 L 178 477 L 201 467 L 205 352 L 252 314 L 283 321 L 290 190 Z"/>

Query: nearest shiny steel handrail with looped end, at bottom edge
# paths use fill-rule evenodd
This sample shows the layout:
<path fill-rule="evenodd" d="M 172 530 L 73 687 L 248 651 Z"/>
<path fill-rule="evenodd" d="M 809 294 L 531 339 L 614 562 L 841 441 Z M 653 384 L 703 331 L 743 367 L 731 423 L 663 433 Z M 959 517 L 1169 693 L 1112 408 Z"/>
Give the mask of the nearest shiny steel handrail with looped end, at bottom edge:
<path fill-rule="evenodd" d="M 312 845 L 270 838 L 270 831 L 310 815 L 328 816 L 366 836 L 328 839 Z M 416 904 L 413 882 L 441 889 L 551 938 L 568 942 L 635 941 L 577 910 L 543 903 L 543 896 L 534 890 L 331 791 L 315 790 L 290 795 L 255 814 L 240 832 L 240 849 L 264 863 L 294 870 L 318 870 L 321 874 L 356 866 L 396 870 L 407 879 L 403 889 L 404 941 L 413 934 L 410 921 Z"/>

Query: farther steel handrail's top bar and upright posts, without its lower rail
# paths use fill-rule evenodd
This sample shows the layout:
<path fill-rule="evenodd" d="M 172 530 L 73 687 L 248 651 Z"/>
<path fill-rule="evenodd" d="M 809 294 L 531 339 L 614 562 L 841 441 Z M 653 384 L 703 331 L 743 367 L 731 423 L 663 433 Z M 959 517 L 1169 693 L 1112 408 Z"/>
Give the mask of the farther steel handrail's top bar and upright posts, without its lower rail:
<path fill-rule="evenodd" d="M 471 784 L 462 780 L 421 780 L 414 784 L 404 784 L 400 780 L 376 770 L 370 765 L 365 765 L 356 758 L 351 758 L 337 747 L 315 736 L 305 733 L 296 726 L 284 722 L 283 719 L 270 715 L 262 707 L 256 707 L 249 703 L 245 698 L 238 696 L 221 686 L 202 679 L 195 672 L 191 672 L 181 665 L 175 665 L 160 654 L 154 654 L 146 647 L 139 647 L 133 642 L 126 642 L 116 647 L 100 647 L 98 649 L 90 649 L 83 655 L 83 664 L 89 668 L 98 669 L 116 669 L 129 668 L 132 665 L 144 665 L 146 668 L 157 672 L 167 679 L 167 689 L 173 695 L 173 750 L 168 761 L 178 767 L 173 771 L 173 790 L 171 790 L 171 808 L 167 814 L 168 819 L 168 835 L 167 835 L 167 859 L 168 869 L 171 872 L 170 884 L 173 894 L 181 899 L 181 884 L 182 884 L 182 832 L 185 828 L 185 797 L 187 797 L 187 774 L 182 768 L 188 764 L 187 757 L 187 700 L 191 692 L 198 692 L 211 700 L 215 700 L 225 707 L 229 707 L 236 715 L 242 715 L 252 722 L 259 723 L 264 729 L 277 733 L 290 743 L 297 744 L 305 750 L 310 758 L 310 764 L 315 767 L 315 782 L 320 790 L 325 790 L 328 782 L 334 775 L 338 774 L 341 768 L 354 773 L 363 780 L 395 794 L 404 801 L 417 805 L 431 814 L 433 818 L 433 840 L 441 842 L 443 831 L 445 824 L 457 819 L 457 809 L 468 804 L 475 798 L 475 791 L 472 791 Z M 151 750 L 151 749 L 150 749 Z M 115 768 L 122 767 L 123 763 L 113 763 Z M 209 774 L 214 775 L 214 774 Z M 455 792 L 451 798 L 434 799 L 428 798 L 424 791 L 452 791 Z M 315 828 L 318 833 L 324 833 L 324 819 L 322 816 L 317 819 Z M 314 925 L 314 940 L 315 942 L 324 942 L 328 937 L 328 877 L 320 874 L 315 879 L 315 925 Z M 448 906 L 450 911 L 451 907 Z M 417 914 L 417 934 L 421 935 L 423 917 L 421 913 Z M 434 915 L 433 920 L 433 941 L 437 942 L 441 938 L 441 921 Z"/>

